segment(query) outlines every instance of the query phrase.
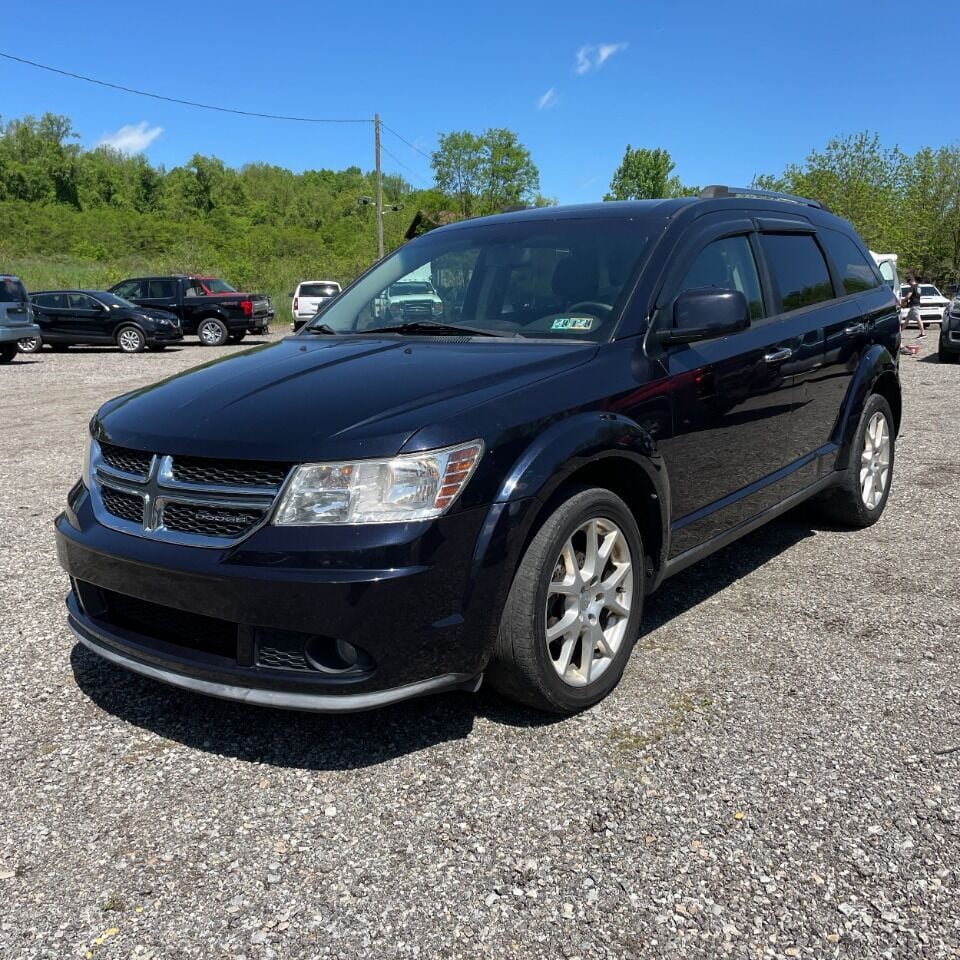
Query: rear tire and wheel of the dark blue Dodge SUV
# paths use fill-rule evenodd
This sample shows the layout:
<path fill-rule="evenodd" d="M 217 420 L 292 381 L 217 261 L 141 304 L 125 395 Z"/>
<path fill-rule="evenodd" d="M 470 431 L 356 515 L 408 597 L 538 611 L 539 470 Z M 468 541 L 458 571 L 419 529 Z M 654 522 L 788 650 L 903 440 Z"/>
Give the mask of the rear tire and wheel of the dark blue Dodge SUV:
<path fill-rule="evenodd" d="M 879 435 L 875 432 L 881 418 L 886 440 L 885 453 L 884 444 L 882 441 L 878 443 Z M 887 505 L 895 460 L 896 440 L 890 404 L 874 393 L 867 400 L 857 424 L 850 448 L 850 466 L 843 471 L 839 484 L 828 490 L 821 500 L 823 514 L 841 526 L 854 529 L 876 523 Z M 865 463 L 869 466 L 863 466 Z M 873 486 L 868 485 L 869 476 L 862 476 L 866 470 L 873 474 Z M 882 484 L 879 493 L 878 483 Z"/>

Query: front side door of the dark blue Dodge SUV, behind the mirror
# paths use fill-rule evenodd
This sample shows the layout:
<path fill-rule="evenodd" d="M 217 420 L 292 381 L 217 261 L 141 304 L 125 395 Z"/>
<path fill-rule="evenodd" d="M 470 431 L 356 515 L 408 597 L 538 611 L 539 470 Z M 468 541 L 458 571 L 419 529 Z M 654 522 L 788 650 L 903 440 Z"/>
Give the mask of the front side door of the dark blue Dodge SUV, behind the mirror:
<path fill-rule="evenodd" d="M 652 329 L 672 323 L 684 290 L 739 290 L 751 326 L 732 336 L 675 344 L 661 362 L 674 384 L 672 435 L 661 442 L 671 490 L 671 557 L 693 549 L 783 498 L 794 445 L 792 351 L 772 322 L 750 220 L 691 239 L 657 298 Z M 648 336 L 648 344 L 651 343 Z"/>

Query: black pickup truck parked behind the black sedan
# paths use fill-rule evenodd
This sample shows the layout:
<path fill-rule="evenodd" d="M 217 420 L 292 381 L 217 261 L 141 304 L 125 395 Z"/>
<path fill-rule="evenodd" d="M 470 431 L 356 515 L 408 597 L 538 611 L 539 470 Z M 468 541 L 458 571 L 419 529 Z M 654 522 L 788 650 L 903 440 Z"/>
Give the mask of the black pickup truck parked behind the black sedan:
<path fill-rule="evenodd" d="M 183 332 L 196 334 L 206 347 L 239 343 L 248 333 L 266 333 L 273 319 L 266 294 L 240 293 L 216 277 L 132 277 L 114 284 L 110 293 L 175 313 Z"/>

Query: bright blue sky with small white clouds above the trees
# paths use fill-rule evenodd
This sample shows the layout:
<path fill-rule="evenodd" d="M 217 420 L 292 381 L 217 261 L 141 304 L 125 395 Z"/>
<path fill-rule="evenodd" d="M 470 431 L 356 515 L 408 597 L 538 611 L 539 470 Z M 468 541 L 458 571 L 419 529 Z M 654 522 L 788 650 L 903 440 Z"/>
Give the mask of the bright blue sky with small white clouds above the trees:
<path fill-rule="evenodd" d="M 906 17 L 910 22 L 906 22 Z M 171 97 L 438 133 L 508 127 L 563 203 L 602 197 L 625 146 L 663 147 L 685 183 L 743 184 L 832 136 L 956 143 L 956 0 L 553 0 L 131 4 L 33 0 L 0 50 Z M 144 99 L 0 60 L 4 119 L 67 114 L 85 146 L 239 166 L 373 166 L 372 124 L 294 124 Z M 429 160 L 384 133 L 388 172 Z"/>

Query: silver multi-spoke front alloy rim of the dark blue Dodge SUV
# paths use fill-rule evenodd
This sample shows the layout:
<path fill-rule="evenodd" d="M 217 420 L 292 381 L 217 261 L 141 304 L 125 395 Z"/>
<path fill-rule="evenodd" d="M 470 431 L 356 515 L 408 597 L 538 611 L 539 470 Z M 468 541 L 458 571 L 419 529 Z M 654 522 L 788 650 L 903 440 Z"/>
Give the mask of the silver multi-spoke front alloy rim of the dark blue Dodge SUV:
<path fill-rule="evenodd" d="M 544 640 L 560 679 L 593 683 L 624 643 L 633 609 L 633 557 L 623 531 L 604 517 L 567 538 L 547 585 Z"/>

